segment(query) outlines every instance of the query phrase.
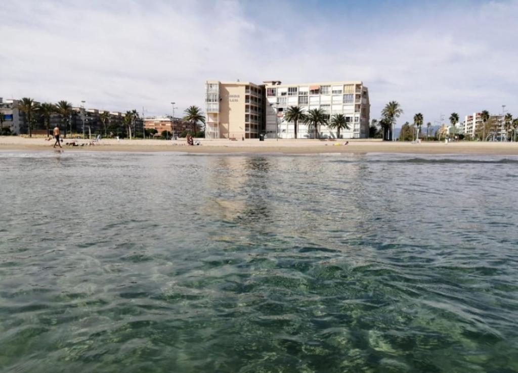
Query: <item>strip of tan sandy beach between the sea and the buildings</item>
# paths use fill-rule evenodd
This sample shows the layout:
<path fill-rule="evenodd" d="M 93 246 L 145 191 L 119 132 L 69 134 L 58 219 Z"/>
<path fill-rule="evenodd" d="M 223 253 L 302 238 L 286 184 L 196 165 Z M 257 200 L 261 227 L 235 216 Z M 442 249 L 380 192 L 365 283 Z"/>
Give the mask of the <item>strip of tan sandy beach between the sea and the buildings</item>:
<path fill-rule="evenodd" d="M 63 144 L 68 140 L 64 139 Z M 184 140 L 120 140 L 103 139 L 99 145 L 88 145 L 89 140 L 79 140 L 85 146 L 65 146 L 67 151 L 112 151 L 112 152 L 188 152 L 188 153 L 408 153 L 408 154 L 495 154 L 518 155 L 518 142 L 382 142 L 380 140 L 208 140 L 200 139 L 202 145 L 187 146 Z M 0 137 L 0 151 L 33 150 L 53 151 L 53 141 L 45 138 Z"/>

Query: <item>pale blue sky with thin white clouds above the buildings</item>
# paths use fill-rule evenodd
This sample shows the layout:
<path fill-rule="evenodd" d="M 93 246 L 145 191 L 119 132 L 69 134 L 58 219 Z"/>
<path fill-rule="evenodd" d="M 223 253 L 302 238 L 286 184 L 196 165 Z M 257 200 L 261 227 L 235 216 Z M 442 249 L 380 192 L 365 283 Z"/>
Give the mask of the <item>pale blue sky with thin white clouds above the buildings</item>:
<path fill-rule="evenodd" d="M 176 116 L 206 80 L 361 80 L 398 126 L 518 116 L 518 0 L 0 2 L 0 97 Z"/>

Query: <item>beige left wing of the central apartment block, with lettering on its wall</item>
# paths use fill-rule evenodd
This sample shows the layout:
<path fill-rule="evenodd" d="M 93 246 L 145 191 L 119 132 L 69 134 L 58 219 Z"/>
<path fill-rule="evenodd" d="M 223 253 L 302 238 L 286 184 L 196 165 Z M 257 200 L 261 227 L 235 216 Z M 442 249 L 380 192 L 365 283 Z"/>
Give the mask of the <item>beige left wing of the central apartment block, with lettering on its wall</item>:
<path fill-rule="evenodd" d="M 257 139 L 264 132 L 264 87 L 251 82 L 205 84 L 205 137 Z"/>

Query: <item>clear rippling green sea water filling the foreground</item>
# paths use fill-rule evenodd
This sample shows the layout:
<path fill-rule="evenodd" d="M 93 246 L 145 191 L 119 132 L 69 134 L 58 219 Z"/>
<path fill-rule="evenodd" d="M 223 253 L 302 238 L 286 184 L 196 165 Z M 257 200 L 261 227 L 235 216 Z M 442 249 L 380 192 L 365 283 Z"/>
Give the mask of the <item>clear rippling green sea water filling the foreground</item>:
<path fill-rule="evenodd" d="M 2 152 L 0 183 L 0 371 L 518 371 L 516 157 Z"/>

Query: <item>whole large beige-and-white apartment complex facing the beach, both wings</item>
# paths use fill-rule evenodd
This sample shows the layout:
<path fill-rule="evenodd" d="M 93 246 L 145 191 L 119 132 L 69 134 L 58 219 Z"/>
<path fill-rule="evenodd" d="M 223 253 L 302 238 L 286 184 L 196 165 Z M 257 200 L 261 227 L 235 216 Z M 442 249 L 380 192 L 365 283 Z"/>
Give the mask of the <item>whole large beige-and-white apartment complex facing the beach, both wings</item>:
<path fill-rule="evenodd" d="M 282 84 L 280 81 L 206 82 L 206 137 L 255 139 L 260 133 L 269 138 L 295 138 L 294 123 L 284 120 L 290 106 L 305 112 L 322 109 L 328 119 L 344 114 L 349 130 L 341 138 L 369 135 L 369 91 L 361 81 Z M 298 138 L 312 138 L 313 131 L 298 123 Z M 335 130 L 322 126 L 320 138 L 336 138 Z"/>

